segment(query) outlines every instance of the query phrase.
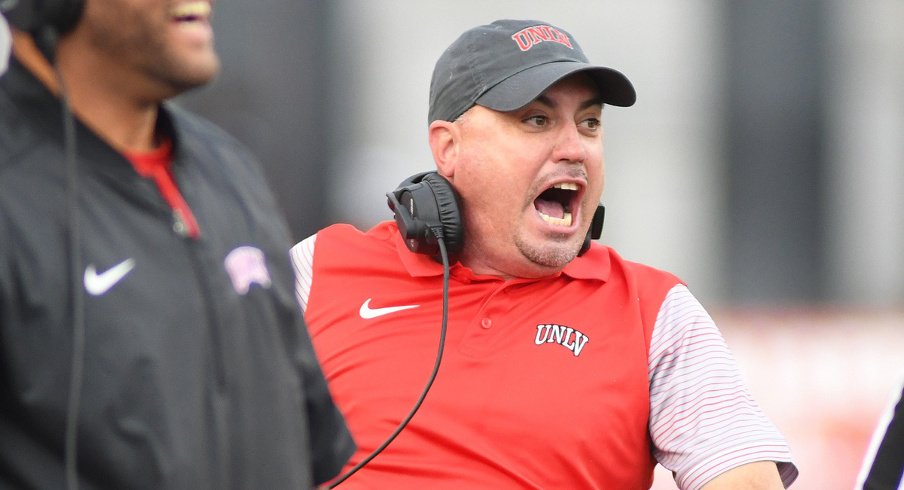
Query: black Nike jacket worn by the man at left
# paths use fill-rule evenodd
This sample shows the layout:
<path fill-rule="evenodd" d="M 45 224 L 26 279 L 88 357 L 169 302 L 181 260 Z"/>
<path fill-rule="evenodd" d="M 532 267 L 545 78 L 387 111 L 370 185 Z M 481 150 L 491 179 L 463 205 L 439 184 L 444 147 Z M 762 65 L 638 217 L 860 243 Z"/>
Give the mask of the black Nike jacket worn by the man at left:
<path fill-rule="evenodd" d="M 73 220 L 61 114 L 13 61 L 0 79 L 0 487 L 64 487 L 79 366 L 83 489 L 288 489 L 335 476 L 354 444 L 254 158 L 212 124 L 161 108 L 194 240 L 151 181 L 76 123 Z M 73 360 L 79 314 L 84 355 Z"/>

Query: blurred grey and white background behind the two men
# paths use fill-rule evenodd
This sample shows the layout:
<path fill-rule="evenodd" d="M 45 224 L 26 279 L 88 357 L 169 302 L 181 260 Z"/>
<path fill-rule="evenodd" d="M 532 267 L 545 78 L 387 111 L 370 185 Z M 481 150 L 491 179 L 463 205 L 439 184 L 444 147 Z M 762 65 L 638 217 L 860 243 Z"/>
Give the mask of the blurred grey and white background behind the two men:
<path fill-rule="evenodd" d="M 256 152 L 296 239 L 368 228 L 433 168 L 437 57 L 498 18 L 632 80 L 604 115 L 601 240 L 707 306 L 794 488 L 852 488 L 904 375 L 904 2 L 219 0 L 223 72 L 180 103 Z M 655 488 L 675 488 L 661 468 Z"/>

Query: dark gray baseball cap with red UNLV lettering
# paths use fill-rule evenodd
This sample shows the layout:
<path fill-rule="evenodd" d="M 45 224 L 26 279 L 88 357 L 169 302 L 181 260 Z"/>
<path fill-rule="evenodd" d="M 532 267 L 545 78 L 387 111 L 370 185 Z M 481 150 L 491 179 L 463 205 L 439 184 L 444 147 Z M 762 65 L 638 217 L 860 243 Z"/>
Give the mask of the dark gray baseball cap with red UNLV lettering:
<path fill-rule="evenodd" d="M 539 20 L 497 20 L 465 31 L 436 62 L 428 122 L 454 121 L 475 104 L 524 107 L 573 73 L 597 83 L 606 104 L 628 107 L 637 95 L 627 77 L 590 64 L 571 34 Z"/>

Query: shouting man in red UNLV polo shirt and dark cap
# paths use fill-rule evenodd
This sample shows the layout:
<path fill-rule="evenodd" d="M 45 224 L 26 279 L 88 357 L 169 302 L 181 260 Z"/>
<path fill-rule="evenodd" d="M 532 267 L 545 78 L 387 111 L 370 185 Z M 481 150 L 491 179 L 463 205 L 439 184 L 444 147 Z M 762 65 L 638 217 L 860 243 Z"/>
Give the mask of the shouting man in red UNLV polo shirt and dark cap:
<path fill-rule="evenodd" d="M 442 54 L 436 171 L 388 194 L 395 221 L 331 226 L 292 250 L 358 442 L 334 484 L 637 489 L 657 463 L 681 488 L 794 481 L 784 438 L 682 281 L 591 240 L 602 109 L 634 100 L 546 22 L 480 26 Z"/>

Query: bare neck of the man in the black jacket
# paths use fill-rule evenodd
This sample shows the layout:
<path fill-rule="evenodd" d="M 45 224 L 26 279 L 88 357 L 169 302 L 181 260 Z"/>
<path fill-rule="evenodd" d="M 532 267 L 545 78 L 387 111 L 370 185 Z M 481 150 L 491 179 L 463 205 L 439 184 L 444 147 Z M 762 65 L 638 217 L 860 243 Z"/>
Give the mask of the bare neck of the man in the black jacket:
<path fill-rule="evenodd" d="M 103 72 L 92 66 L 91 54 L 67 41 L 61 39 L 57 49 L 59 77 L 28 34 L 13 32 L 13 55 L 57 97 L 62 81 L 72 112 L 114 149 L 154 148 L 159 101 L 132 97 L 122 85 L 97 76 Z"/>

